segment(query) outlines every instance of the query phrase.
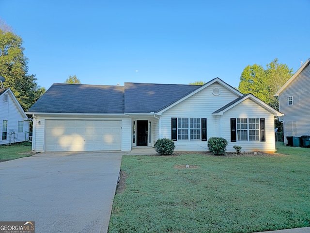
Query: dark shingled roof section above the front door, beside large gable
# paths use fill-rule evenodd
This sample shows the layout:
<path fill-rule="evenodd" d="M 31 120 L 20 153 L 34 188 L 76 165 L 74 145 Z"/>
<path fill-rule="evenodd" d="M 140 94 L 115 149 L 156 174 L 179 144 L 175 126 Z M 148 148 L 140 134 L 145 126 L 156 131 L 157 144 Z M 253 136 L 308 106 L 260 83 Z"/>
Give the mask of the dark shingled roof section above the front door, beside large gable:
<path fill-rule="evenodd" d="M 158 112 L 201 85 L 125 83 L 125 113 Z"/>

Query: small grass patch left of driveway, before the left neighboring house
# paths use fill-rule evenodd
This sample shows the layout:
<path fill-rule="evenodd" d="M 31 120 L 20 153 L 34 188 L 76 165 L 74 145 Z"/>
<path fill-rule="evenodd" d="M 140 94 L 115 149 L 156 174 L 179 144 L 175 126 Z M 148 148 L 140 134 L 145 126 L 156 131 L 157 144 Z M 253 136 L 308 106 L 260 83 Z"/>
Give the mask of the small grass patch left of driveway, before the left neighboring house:
<path fill-rule="evenodd" d="M 31 156 L 30 143 L 0 145 L 0 162 Z"/>

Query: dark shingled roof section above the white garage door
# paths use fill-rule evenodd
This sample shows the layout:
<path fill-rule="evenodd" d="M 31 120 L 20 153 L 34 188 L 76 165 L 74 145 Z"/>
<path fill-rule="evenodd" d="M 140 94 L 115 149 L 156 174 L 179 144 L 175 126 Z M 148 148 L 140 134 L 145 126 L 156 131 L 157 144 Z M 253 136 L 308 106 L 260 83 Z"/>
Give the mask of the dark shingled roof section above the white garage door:
<path fill-rule="evenodd" d="M 124 86 L 54 83 L 29 113 L 124 113 Z"/>

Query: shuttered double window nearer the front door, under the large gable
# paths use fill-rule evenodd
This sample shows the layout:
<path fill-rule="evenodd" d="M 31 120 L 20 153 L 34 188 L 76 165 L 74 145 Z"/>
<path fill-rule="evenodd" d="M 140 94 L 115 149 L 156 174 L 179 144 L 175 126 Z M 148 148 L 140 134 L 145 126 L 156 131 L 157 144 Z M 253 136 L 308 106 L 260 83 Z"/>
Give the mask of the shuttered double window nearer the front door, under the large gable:
<path fill-rule="evenodd" d="M 171 139 L 177 140 L 201 140 L 207 139 L 206 118 L 171 118 Z"/>

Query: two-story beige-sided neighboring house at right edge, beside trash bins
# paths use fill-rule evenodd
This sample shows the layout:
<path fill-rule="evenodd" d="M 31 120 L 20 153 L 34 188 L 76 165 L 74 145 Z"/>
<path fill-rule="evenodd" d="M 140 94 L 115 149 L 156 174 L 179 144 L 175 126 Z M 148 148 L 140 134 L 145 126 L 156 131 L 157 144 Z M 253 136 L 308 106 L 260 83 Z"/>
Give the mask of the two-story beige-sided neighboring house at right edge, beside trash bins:
<path fill-rule="evenodd" d="M 283 122 L 284 142 L 287 136 L 310 135 L 310 59 L 279 89 L 279 111 Z"/>

